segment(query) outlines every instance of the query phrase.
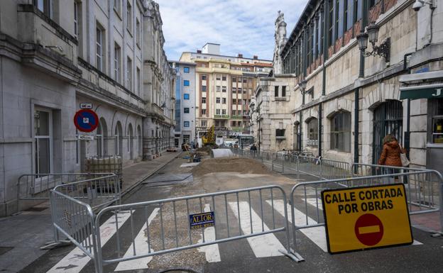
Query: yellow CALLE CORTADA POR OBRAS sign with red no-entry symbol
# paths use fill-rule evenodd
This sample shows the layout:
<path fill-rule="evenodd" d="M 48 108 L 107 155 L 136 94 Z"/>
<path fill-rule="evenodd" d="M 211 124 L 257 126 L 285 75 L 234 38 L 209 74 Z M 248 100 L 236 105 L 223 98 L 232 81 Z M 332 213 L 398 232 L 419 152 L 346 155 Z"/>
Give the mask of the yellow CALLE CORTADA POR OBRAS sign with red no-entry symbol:
<path fill-rule="evenodd" d="M 412 244 L 404 184 L 322 191 L 329 253 Z"/>

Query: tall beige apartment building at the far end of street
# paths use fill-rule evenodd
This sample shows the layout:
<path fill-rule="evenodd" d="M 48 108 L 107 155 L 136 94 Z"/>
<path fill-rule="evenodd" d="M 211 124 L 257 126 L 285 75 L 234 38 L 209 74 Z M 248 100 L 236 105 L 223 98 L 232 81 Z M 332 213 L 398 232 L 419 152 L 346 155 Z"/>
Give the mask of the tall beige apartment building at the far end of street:
<path fill-rule="evenodd" d="M 207 43 L 197 52 L 183 52 L 182 62 L 194 62 L 197 138 L 214 125 L 219 138 L 251 133 L 249 104 L 258 77 L 269 74 L 272 62 L 257 56 L 220 54 L 220 45 Z"/>

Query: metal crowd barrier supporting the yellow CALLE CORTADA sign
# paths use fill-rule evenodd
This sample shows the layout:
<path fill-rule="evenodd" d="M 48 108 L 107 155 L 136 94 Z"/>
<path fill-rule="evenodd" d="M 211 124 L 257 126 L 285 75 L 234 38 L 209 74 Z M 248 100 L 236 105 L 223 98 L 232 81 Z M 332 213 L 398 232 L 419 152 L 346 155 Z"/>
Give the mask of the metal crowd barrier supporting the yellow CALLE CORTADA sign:
<path fill-rule="evenodd" d="M 407 169 L 407 168 L 403 168 Z M 412 172 L 381 174 L 347 179 L 329 179 L 316 182 L 302 182 L 292 187 L 290 211 L 292 219 L 292 247 L 296 253 L 296 231 L 302 228 L 324 226 L 321 191 L 354 186 L 376 186 L 394 184 L 407 180 L 406 197 L 410 215 L 439 212 L 440 232 L 443 232 L 443 177 L 435 170 L 412 169 Z M 300 198 L 295 199 L 295 196 Z M 300 202 L 301 200 L 301 202 Z M 295 213 L 301 211 L 305 220 L 296 223 Z M 300 256 L 300 255 L 299 255 Z"/>

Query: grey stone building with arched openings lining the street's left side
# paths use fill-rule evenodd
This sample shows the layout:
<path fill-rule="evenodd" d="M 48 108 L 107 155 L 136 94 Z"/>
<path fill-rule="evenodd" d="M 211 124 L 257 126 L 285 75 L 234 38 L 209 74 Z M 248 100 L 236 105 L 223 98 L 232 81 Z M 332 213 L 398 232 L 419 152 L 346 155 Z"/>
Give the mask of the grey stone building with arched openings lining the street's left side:
<path fill-rule="evenodd" d="M 161 25 L 153 1 L 0 1 L 0 216 L 17 211 L 21 174 L 82 172 L 92 156 L 128 165 L 173 144 Z M 72 122 L 81 103 L 99 116 L 91 141 Z"/>

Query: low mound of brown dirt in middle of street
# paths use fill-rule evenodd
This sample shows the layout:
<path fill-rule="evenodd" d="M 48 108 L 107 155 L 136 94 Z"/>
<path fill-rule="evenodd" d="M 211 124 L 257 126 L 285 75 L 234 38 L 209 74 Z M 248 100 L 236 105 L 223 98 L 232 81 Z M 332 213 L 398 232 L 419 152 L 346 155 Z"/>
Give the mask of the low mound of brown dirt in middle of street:
<path fill-rule="evenodd" d="M 270 174 L 268 168 L 256 160 L 249 158 L 211 158 L 203 160 L 192 169 L 195 177 L 212 172 L 239 172 L 241 174 Z"/>

